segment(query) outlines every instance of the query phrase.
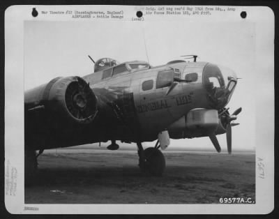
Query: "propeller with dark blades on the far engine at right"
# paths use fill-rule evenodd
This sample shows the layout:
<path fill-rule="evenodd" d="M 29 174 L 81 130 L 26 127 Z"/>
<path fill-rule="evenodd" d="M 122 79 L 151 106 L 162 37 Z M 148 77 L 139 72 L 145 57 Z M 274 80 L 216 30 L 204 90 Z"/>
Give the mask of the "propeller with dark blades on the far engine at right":
<path fill-rule="evenodd" d="M 223 110 L 223 112 L 220 112 L 219 116 L 223 116 L 225 120 L 224 123 L 226 128 L 226 137 L 227 137 L 227 152 L 232 153 L 232 126 L 237 126 L 239 123 L 231 123 L 231 122 L 237 119 L 237 115 L 241 112 L 242 108 L 239 107 L 239 109 L 234 111 L 234 113 L 231 115 L 229 114 L 228 110 L 229 108 Z M 218 151 L 219 153 L 221 149 L 216 134 L 209 133 L 209 138 L 211 139 L 211 142 L 214 145 L 216 151 Z"/>

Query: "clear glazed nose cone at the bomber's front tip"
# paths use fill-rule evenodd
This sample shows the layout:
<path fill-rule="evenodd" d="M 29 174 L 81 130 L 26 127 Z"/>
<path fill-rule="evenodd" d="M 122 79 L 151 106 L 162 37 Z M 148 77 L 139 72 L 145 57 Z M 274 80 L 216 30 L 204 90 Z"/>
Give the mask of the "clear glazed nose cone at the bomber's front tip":
<path fill-rule="evenodd" d="M 206 64 L 203 84 L 209 105 L 216 110 L 225 107 L 234 92 L 236 82 L 237 77 L 233 70 L 212 63 Z"/>

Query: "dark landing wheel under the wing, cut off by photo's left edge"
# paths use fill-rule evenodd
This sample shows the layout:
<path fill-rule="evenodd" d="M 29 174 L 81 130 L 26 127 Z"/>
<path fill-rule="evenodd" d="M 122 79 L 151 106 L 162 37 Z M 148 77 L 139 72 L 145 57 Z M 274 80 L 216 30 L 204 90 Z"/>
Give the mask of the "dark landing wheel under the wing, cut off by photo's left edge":
<path fill-rule="evenodd" d="M 24 177 L 25 185 L 29 185 L 33 181 L 33 176 L 38 169 L 38 162 L 36 151 L 25 150 L 24 151 Z"/>

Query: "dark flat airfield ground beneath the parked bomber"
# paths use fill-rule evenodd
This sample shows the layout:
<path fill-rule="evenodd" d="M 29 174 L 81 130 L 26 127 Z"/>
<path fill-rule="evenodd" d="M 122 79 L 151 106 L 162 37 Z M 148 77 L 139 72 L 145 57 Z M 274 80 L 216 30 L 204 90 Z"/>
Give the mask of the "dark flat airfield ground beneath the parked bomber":
<path fill-rule="evenodd" d="M 140 173 L 137 151 L 47 150 L 28 204 L 209 204 L 255 200 L 255 153 L 164 151 L 161 177 Z"/>

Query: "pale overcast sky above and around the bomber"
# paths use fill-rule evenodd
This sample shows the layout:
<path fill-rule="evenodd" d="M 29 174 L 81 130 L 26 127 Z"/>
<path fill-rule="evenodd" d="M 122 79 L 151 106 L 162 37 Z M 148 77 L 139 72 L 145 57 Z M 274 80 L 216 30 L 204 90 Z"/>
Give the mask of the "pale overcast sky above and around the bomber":
<path fill-rule="evenodd" d="M 146 48 L 144 47 L 144 36 Z M 146 59 L 152 66 L 167 63 L 184 54 L 197 54 L 197 61 L 209 61 L 232 68 L 241 77 L 227 107 L 238 116 L 233 127 L 233 149 L 255 146 L 255 25 L 252 22 L 25 22 L 25 90 L 54 77 L 93 73 L 94 60 L 111 57 L 117 61 Z M 227 150 L 225 135 L 218 135 Z M 208 137 L 171 140 L 171 146 L 213 149 Z"/>

